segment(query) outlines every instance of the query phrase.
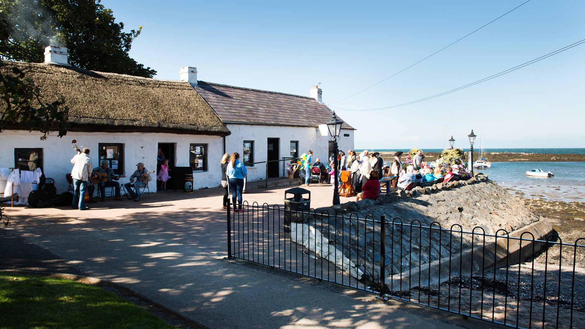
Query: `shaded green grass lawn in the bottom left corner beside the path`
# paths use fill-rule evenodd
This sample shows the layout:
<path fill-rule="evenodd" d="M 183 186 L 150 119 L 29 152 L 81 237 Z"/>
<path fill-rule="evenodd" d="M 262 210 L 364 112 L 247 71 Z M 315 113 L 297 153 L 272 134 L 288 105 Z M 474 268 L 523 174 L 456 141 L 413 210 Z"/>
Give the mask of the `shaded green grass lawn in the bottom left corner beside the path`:
<path fill-rule="evenodd" d="M 98 286 L 0 275 L 0 328 L 174 328 Z"/>

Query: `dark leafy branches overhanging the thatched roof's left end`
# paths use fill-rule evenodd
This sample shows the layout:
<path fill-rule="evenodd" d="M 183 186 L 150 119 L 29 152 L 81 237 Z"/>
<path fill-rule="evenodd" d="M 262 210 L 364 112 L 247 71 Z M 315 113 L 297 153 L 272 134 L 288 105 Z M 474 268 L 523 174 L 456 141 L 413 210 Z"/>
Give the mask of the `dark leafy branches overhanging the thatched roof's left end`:
<path fill-rule="evenodd" d="M 0 19 L 0 30 L 8 22 Z M 4 41 L 6 33 L 0 32 Z M 0 59 L 0 132 L 6 124 L 13 124 L 28 131 L 40 131 L 41 140 L 47 133 L 58 131 L 59 137 L 67 133 L 69 108 L 63 100 L 45 103 L 40 96 L 40 88 L 26 77 L 26 72 L 17 67 L 9 67 Z"/>

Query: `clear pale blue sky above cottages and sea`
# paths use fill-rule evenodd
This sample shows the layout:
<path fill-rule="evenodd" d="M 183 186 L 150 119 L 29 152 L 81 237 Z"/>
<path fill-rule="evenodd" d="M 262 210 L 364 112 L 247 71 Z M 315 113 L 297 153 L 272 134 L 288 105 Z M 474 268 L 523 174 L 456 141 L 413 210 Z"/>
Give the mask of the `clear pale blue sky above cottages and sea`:
<path fill-rule="evenodd" d="M 321 83 L 339 101 L 423 59 L 522 4 L 519 1 L 113 1 L 130 55 L 178 80 L 308 95 Z M 347 100 L 369 109 L 472 83 L 585 39 L 585 2 L 532 0 L 441 53 Z M 433 100 L 373 112 L 336 110 L 357 128 L 356 148 L 442 148 L 445 130 L 469 146 L 585 148 L 585 44 Z M 445 129 L 445 125 L 447 126 Z"/>

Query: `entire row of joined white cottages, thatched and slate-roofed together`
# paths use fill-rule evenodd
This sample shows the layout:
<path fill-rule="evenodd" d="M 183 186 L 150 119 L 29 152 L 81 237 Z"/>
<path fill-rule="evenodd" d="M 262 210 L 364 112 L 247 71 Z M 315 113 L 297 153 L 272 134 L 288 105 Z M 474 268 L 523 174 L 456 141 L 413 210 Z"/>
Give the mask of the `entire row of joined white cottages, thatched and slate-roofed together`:
<path fill-rule="evenodd" d="M 65 176 L 75 155 L 71 140 L 90 148 L 97 167 L 107 160 L 116 174 L 130 176 L 136 163 L 157 169 L 157 150 L 169 159 L 172 181 L 181 187 L 184 174 L 193 174 L 194 189 L 217 187 L 223 153 L 239 152 L 249 164 L 249 181 L 286 176 L 287 162 L 266 160 L 298 157 L 311 149 L 328 159 L 333 145 L 319 125 L 331 119 L 322 103 L 321 89 L 311 97 L 254 90 L 197 80 L 197 69 L 184 67 L 180 81 L 103 73 L 71 67 L 67 49 L 49 46 L 45 63 L 8 62 L 2 70 L 18 67 L 40 86 L 43 101 L 63 97 L 69 107 L 67 136 L 39 140 L 39 132 L 7 126 L 0 133 L 0 167 L 40 167 L 67 190 Z M 342 125 L 340 150 L 353 148 L 355 129 Z M 36 153 L 35 153 L 36 152 Z M 122 178 L 121 183 L 128 179 Z M 156 180 L 149 184 L 157 190 Z"/>

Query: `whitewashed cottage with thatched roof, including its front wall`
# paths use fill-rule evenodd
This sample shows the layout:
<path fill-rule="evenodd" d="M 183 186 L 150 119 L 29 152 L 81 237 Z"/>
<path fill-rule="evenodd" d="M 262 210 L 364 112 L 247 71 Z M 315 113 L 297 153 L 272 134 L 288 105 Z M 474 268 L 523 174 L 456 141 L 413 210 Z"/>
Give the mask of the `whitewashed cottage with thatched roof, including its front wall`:
<path fill-rule="evenodd" d="M 160 148 L 175 169 L 170 175 L 176 183 L 183 184 L 187 171 L 195 173 L 194 189 L 218 186 L 221 172 L 216 164 L 229 129 L 190 84 L 74 68 L 62 56 L 66 52 L 61 48 L 61 58 L 49 57 L 43 64 L 8 62 L 2 68 L 27 71 L 45 102 L 63 97 L 70 129 L 63 138 L 52 133 L 42 141 L 39 132 L 6 127 L 0 133 L 0 167 L 29 169 L 30 155 L 37 152 L 33 166 L 53 178 L 59 191 L 66 191 L 75 139 L 91 149 L 94 167 L 108 160 L 116 174 L 130 176 L 139 162 L 156 170 Z M 149 187 L 156 191 L 156 179 Z"/>

